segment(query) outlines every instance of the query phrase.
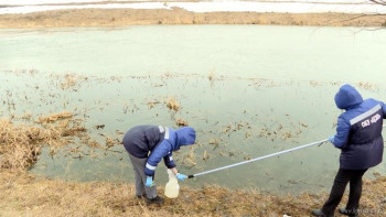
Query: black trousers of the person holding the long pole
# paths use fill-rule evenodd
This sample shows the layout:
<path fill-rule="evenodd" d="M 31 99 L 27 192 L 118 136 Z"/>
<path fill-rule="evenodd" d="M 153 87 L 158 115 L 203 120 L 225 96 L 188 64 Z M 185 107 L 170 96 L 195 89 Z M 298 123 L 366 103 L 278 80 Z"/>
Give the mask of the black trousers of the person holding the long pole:
<path fill-rule="evenodd" d="M 346 204 L 347 210 L 356 210 L 360 206 L 360 199 L 362 194 L 362 176 L 365 174 L 365 170 L 343 170 L 340 169 L 334 180 L 330 197 L 322 207 L 322 211 L 326 216 L 333 216 L 336 206 L 341 202 L 344 189 L 350 182 L 349 202 Z"/>

